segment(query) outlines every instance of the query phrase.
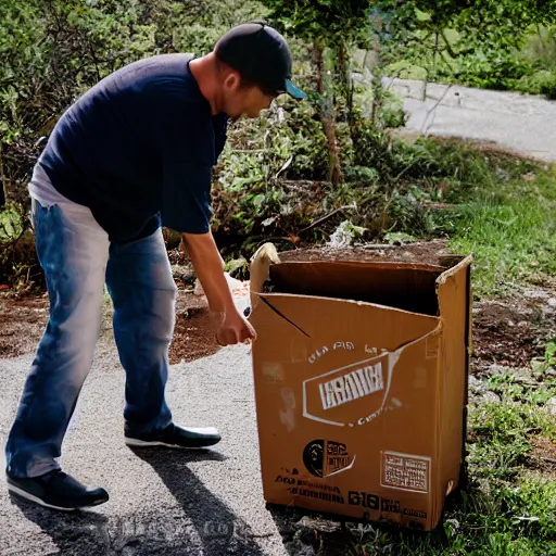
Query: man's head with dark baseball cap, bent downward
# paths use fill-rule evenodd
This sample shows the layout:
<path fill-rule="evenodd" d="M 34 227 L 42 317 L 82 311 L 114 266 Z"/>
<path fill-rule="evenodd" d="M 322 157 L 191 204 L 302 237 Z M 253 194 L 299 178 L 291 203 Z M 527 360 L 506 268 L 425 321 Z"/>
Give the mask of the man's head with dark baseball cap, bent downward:
<path fill-rule="evenodd" d="M 205 86 L 205 96 L 214 111 L 231 119 L 257 117 L 281 93 L 305 98 L 290 80 L 292 56 L 286 39 L 264 22 L 233 27 L 220 37 L 208 60 L 213 83 Z"/>

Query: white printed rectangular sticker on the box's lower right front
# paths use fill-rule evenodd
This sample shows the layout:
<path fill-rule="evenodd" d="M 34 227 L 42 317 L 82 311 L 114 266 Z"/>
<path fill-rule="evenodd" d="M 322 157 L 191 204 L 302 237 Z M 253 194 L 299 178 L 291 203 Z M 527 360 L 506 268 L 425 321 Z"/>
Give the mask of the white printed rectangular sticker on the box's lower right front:
<path fill-rule="evenodd" d="M 429 492 L 430 457 L 382 452 L 380 485 L 408 492 Z"/>

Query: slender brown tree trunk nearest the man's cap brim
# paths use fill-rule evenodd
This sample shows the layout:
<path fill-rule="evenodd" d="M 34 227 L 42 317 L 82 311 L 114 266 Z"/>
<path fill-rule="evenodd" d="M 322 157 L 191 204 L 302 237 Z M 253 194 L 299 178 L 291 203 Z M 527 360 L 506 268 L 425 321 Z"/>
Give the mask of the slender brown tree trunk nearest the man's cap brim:
<path fill-rule="evenodd" d="M 336 138 L 336 122 L 333 113 L 332 96 L 330 93 L 330 79 L 326 78 L 324 45 L 316 39 L 313 46 L 313 63 L 317 77 L 317 92 L 320 96 L 320 121 L 326 136 L 328 148 L 328 180 L 337 186 L 342 179 L 340 156 L 338 154 L 338 141 Z"/>

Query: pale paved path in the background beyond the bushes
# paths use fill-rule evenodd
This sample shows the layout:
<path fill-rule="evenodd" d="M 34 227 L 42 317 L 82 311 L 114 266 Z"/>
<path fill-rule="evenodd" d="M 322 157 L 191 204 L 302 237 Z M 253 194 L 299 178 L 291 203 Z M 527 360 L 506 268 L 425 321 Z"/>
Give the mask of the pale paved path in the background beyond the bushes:
<path fill-rule="evenodd" d="M 384 78 L 410 114 L 406 128 L 435 136 L 493 141 L 556 162 L 556 102 L 518 92 Z"/>

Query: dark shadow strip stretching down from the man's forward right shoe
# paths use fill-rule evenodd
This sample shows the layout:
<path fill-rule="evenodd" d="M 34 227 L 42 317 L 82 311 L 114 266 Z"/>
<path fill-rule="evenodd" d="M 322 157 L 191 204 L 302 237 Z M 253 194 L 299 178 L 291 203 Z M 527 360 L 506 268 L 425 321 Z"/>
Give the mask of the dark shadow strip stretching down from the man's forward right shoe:
<path fill-rule="evenodd" d="M 215 496 L 188 467 L 188 464 L 193 462 L 223 460 L 225 456 L 207 450 L 186 452 L 169 448 L 132 448 L 132 452 L 152 466 L 182 507 L 184 514 L 190 519 L 197 532 L 195 536 L 200 539 L 202 545 L 199 546 L 200 553 L 211 556 L 224 554 L 262 556 L 264 554 L 255 542 L 251 528 Z M 191 541 L 186 539 L 184 543 L 186 542 Z M 164 555 L 194 554 L 194 547 L 184 543 L 175 544 L 172 548 L 166 547 Z M 154 552 L 144 554 L 154 554 Z"/>

